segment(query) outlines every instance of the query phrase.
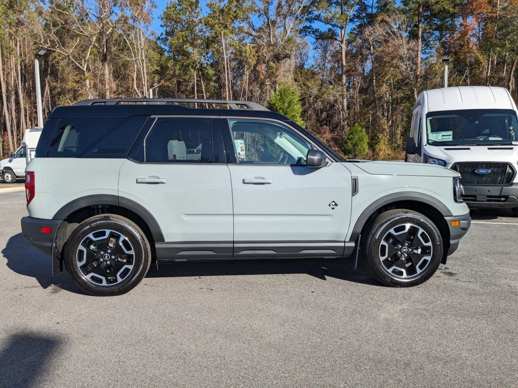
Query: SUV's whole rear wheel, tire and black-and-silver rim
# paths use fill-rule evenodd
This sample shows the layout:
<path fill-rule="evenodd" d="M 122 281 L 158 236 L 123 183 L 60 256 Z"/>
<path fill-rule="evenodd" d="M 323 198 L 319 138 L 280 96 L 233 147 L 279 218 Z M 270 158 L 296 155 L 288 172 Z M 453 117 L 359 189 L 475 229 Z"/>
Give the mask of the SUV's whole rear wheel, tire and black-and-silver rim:
<path fill-rule="evenodd" d="M 70 234 L 65 264 L 76 285 L 91 295 L 121 295 L 133 289 L 151 264 L 146 235 L 113 214 L 91 217 Z"/>

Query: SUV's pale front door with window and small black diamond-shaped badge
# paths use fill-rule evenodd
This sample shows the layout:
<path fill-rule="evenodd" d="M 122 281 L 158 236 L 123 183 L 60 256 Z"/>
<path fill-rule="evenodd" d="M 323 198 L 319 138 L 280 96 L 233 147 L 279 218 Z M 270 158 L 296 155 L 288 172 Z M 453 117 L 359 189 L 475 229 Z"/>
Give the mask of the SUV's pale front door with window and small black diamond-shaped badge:
<path fill-rule="evenodd" d="M 341 256 L 351 212 L 351 173 L 341 163 L 306 167 L 314 146 L 274 120 L 222 119 L 236 163 L 234 257 Z"/>

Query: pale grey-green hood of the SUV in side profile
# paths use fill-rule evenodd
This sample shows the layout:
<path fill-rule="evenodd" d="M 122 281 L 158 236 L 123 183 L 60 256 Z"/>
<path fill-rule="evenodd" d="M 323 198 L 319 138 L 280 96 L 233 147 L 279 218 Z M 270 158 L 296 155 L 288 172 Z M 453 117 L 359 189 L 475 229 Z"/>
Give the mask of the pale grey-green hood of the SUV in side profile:
<path fill-rule="evenodd" d="M 396 161 L 354 161 L 356 167 L 373 175 L 461 176 L 445 167 Z M 344 163 L 347 166 L 347 162 Z"/>

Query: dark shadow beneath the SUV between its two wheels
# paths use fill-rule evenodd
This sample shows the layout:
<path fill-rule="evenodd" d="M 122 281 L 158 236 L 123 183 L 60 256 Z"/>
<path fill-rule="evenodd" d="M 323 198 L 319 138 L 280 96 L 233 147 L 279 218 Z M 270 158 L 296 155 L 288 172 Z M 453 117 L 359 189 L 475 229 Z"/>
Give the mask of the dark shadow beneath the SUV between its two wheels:
<path fill-rule="evenodd" d="M 333 277 L 385 287 L 370 277 L 361 264 L 354 270 L 354 260 L 343 258 L 159 262 L 159 270 L 151 264 L 147 277 L 286 274 L 307 274 L 322 280 Z"/>

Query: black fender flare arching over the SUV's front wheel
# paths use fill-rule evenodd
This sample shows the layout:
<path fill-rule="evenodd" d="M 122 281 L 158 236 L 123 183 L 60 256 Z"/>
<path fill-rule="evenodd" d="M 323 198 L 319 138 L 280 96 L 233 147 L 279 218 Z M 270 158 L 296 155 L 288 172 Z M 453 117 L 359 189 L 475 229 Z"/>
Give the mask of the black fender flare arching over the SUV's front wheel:
<path fill-rule="evenodd" d="M 362 229 L 365 226 L 369 217 L 380 207 L 388 205 L 394 202 L 404 202 L 404 201 L 413 201 L 413 202 L 421 202 L 425 205 L 434 207 L 439 213 L 443 215 L 443 217 L 450 217 L 452 213 L 450 209 L 437 198 L 434 198 L 428 194 L 416 191 L 403 191 L 392 193 L 377 199 L 372 202 L 367 208 L 360 214 L 356 223 L 354 224 L 353 230 L 351 232 L 351 236 L 349 237 L 349 241 L 355 241 L 356 238 L 362 233 Z"/>

